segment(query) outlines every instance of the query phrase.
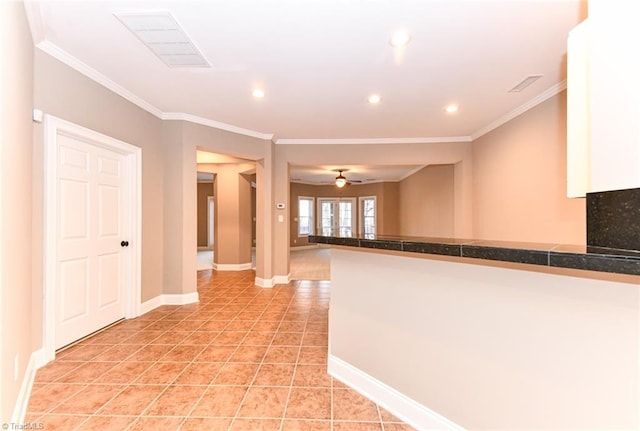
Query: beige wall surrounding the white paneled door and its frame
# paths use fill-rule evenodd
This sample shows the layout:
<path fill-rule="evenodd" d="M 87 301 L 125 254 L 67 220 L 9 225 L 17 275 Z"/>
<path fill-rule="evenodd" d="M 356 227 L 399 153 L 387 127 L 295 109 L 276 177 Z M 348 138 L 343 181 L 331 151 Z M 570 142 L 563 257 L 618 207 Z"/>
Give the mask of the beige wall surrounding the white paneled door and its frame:
<path fill-rule="evenodd" d="M 165 186 L 161 121 L 58 60 L 35 50 L 34 104 L 46 114 L 142 148 L 142 300 L 163 293 Z M 34 259 L 42 262 L 43 125 L 34 127 Z M 167 173 L 168 174 L 168 173 Z M 195 250 L 195 247 L 194 247 Z M 41 339 L 41 263 L 34 265 L 34 341 Z M 168 293 L 168 292 L 167 292 Z"/>

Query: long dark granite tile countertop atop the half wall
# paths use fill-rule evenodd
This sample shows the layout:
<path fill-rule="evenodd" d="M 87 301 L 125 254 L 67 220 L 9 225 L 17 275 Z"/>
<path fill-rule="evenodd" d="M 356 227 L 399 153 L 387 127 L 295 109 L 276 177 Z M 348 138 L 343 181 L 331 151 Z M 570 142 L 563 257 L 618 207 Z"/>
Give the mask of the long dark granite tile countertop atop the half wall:
<path fill-rule="evenodd" d="M 310 235 L 309 242 L 640 275 L 640 251 L 586 245 L 381 235 Z"/>

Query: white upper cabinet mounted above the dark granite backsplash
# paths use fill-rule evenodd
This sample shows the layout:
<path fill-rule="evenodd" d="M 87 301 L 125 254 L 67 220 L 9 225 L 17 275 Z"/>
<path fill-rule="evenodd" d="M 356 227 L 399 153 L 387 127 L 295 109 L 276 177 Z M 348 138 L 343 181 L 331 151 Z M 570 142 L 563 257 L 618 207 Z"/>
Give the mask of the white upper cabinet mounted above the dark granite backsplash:
<path fill-rule="evenodd" d="M 568 194 L 640 187 L 640 2 L 591 0 L 568 42 Z"/>

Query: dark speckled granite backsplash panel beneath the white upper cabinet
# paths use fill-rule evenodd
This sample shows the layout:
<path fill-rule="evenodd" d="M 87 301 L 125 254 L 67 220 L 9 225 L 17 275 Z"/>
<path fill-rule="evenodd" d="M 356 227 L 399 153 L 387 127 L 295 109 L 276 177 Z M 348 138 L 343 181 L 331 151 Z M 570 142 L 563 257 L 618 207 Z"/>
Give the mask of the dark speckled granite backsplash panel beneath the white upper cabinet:
<path fill-rule="evenodd" d="M 640 189 L 587 194 L 587 244 L 640 250 Z"/>

